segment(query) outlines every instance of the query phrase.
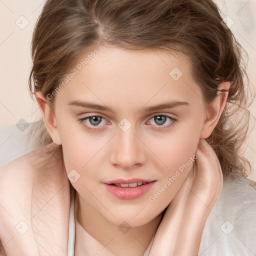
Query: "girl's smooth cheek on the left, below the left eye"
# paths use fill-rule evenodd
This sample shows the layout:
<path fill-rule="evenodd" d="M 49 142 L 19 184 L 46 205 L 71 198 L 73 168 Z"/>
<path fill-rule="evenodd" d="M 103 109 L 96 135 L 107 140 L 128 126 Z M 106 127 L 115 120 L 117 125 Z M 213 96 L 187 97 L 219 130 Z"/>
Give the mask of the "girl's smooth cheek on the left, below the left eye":
<path fill-rule="evenodd" d="M 98 170 L 102 166 L 99 162 L 109 138 L 99 139 L 95 136 L 81 128 L 77 129 L 77 126 L 76 130 L 62 131 L 60 135 L 65 169 L 71 184 L 78 192 L 86 192 L 84 186 L 94 188 L 93 182 L 101 177 Z"/>

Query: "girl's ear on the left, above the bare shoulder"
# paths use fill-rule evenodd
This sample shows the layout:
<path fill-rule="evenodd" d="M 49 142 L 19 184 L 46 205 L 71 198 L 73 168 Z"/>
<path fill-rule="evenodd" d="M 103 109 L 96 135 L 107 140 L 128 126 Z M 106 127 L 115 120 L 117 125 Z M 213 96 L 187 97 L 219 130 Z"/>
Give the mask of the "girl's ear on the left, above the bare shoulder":
<path fill-rule="evenodd" d="M 39 105 L 39 108 L 40 108 L 40 111 L 42 114 L 42 118 L 43 118 L 43 121 L 44 121 L 44 124 L 46 126 L 48 133 L 50 134 L 53 142 L 57 145 L 60 145 L 61 142 L 60 142 L 57 126 L 56 126 L 55 114 L 50 109 L 50 107 L 48 105 L 48 103 L 49 103 L 48 100 L 46 100 L 44 98 L 41 91 L 35 92 L 35 98 Z"/>

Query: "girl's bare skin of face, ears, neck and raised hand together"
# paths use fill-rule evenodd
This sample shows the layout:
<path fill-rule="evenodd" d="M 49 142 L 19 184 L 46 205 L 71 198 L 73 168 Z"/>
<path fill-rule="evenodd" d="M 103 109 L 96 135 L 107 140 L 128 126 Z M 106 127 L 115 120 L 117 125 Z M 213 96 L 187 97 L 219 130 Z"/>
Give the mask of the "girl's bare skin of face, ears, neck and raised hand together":
<path fill-rule="evenodd" d="M 86 248 L 82 229 L 106 245 L 103 250 L 102 246 L 95 248 L 99 255 L 141 256 L 156 230 L 151 248 L 154 255 L 187 255 L 184 250 L 196 255 L 204 223 L 222 182 L 217 157 L 203 138 L 216 126 L 227 92 L 218 92 L 205 109 L 187 56 L 106 46 L 98 49 L 99 53 L 55 95 L 53 111 L 41 92 L 36 92 L 46 128 L 53 142 L 62 145 L 63 171 L 75 169 L 80 175 L 72 183 L 77 191 L 76 225 L 82 227 L 76 232 L 75 255 L 82 255 Z M 84 58 L 81 56 L 77 63 Z M 176 81 L 169 75 L 173 67 L 183 73 Z M 223 82 L 219 89 L 229 86 L 229 82 Z M 90 100 L 115 112 L 69 105 L 73 100 Z M 170 100 L 189 105 L 143 110 Z M 166 118 L 164 124 L 158 124 L 152 117 L 160 114 L 176 121 Z M 103 117 L 100 130 L 89 119 L 84 122 L 94 131 L 85 129 L 78 120 L 95 115 Z M 118 126 L 123 118 L 131 124 L 126 131 Z M 157 129 L 169 123 L 172 125 L 168 128 Z M 191 164 L 151 202 L 149 196 L 198 150 L 201 154 L 196 159 L 194 182 Z M 133 177 L 156 181 L 145 194 L 130 200 L 113 196 L 102 183 Z M 188 189 L 191 185 L 192 192 Z M 202 200 L 198 201 L 198 197 Z M 194 226 L 189 226 L 193 218 Z M 123 221 L 131 227 L 125 234 L 118 229 Z M 195 230 L 196 241 L 182 239 L 193 236 Z"/>

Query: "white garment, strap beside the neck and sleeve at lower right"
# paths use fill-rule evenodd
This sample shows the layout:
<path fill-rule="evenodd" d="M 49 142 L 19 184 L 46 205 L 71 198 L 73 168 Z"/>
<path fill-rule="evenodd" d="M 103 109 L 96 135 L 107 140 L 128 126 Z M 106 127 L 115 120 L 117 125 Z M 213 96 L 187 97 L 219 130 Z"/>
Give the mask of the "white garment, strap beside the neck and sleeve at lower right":
<path fill-rule="evenodd" d="M 74 235 L 74 196 L 72 196 L 68 256 L 74 255 Z M 151 244 L 152 240 L 148 248 Z M 148 256 L 148 248 L 143 256 Z M 256 183 L 246 178 L 236 181 L 224 179 L 220 196 L 205 223 L 198 255 L 254 256 L 255 254 Z"/>

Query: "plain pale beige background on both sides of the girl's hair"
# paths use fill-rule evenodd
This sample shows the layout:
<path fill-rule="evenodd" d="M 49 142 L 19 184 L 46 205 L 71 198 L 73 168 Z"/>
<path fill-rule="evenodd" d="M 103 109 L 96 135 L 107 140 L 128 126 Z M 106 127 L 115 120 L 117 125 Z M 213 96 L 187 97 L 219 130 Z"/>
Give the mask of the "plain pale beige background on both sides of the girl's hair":
<path fill-rule="evenodd" d="M 228 15 L 234 24 L 231 30 L 248 52 L 248 71 L 252 82 L 251 96 L 256 93 L 256 0 L 216 0 L 223 17 Z M 0 127 L 15 125 L 21 118 L 32 122 L 40 116 L 39 109 L 28 94 L 28 75 L 31 65 L 30 42 L 32 29 L 44 1 L 0 0 Z M 256 117 L 256 96 L 250 109 Z M 0 141 L 0 146 L 4 141 Z M 253 128 L 247 141 L 245 155 L 249 158 L 256 181 L 256 131 Z"/>

